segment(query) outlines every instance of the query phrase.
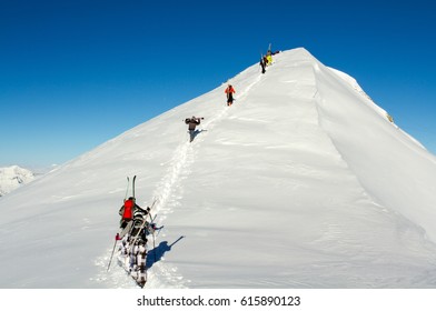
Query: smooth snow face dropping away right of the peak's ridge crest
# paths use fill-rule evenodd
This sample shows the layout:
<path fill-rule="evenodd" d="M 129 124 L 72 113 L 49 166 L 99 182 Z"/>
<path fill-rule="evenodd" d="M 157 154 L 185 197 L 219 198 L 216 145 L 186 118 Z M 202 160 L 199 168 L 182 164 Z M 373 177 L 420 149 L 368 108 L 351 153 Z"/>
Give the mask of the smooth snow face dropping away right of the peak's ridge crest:
<path fill-rule="evenodd" d="M 320 124 L 349 168 L 378 203 L 423 227 L 435 242 L 436 158 L 386 122 L 386 112 L 369 98 L 351 106 L 356 97 L 348 86 L 334 83 L 319 63 L 315 71 Z"/>

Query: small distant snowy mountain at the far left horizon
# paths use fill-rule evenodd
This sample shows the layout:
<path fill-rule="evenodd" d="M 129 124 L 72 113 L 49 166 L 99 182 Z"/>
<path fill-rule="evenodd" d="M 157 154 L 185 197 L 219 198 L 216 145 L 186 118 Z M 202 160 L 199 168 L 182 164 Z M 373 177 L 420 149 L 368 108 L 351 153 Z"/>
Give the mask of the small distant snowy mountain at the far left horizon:
<path fill-rule="evenodd" d="M 34 179 L 34 174 L 18 165 L 0 168 L 0 197 Z"/>

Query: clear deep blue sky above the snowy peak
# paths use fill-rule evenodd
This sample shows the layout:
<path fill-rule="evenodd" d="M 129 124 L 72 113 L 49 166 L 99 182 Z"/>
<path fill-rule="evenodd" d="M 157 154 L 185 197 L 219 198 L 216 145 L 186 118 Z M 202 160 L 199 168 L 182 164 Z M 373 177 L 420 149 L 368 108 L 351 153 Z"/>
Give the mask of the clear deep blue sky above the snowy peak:
<path fill-rule="evenodd" d="M 436 152 L 433 1 L 0 0 L 0 167 L 63 163 L 272 49 L 357 79 Z"/>

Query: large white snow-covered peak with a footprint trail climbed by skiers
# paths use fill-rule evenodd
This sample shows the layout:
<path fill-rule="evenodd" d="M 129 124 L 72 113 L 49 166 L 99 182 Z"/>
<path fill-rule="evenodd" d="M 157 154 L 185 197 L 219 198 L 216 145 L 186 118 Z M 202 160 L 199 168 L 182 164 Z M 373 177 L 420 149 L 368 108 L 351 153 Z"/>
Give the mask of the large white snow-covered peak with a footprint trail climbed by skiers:
<path fill-rule="evenodd" d="M 137 174 L 162 227 L 146 288 L 435 288 L 436 157 L 349 76 L 274 58 L 232 107 L 225 83 L 2 198 L 0 287 L 136 288 L 107 267 Z"/>

